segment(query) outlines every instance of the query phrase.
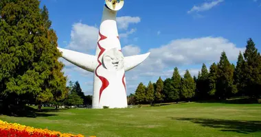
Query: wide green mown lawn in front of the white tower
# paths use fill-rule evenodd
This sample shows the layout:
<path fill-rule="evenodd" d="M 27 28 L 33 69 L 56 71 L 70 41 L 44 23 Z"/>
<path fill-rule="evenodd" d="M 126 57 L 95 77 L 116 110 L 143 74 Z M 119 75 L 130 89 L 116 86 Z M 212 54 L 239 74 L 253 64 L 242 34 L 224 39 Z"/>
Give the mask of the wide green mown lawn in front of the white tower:
<path fill-rule="evenodd" d="M 261 104 L 179 103 L 128 109 L 44 108 L 35 118 L 0 116 L 20 123 L 84 136 L 261 136 Z"/>

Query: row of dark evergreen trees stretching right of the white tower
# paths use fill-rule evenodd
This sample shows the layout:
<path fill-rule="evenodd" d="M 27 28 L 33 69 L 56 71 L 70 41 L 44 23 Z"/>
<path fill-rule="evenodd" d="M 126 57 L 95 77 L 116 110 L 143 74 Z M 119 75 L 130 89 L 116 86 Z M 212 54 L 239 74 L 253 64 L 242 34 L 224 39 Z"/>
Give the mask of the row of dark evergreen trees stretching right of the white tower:
<path fill-rule="evenodd" d="M 134 94 L 128 95 L 128 104 L 159 103 L 173 101 L 200 101 L 209 99 L 229 99 L 261 95 L 261 56 L 251 38 L 247 40 L 245 52 L 240 51 L 236 66 L 229 62 L 225 51 L 220 60 L 207 70 L 203 63 L 197 76 L 188 70 L 183 77 L 174 68 L 171 78 L 164 81 L 159 77 L 156 83 L 148 86 L 139 83 Z"/>

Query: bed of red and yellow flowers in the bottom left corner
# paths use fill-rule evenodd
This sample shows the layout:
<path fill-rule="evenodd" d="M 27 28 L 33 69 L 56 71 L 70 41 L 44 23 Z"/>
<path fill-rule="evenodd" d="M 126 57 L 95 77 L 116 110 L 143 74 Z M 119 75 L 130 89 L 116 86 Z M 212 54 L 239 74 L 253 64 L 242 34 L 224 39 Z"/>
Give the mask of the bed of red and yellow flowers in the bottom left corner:
<path fill-rule="evenodd" d="M 0 136 L 6 137 L 84 137 L 82 135 L 62 134 L 48 129 L 37 129 L 17 123 L 7 123 L 0 120 Z"/>

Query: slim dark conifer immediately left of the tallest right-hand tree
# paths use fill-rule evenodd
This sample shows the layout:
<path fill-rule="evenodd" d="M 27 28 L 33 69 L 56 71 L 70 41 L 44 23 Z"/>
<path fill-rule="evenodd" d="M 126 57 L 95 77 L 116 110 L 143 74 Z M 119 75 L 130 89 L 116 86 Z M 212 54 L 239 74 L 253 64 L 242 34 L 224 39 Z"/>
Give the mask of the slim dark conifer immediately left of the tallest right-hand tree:
<path fill-rule="evenodd" d="M 244 94 L 244 88 L 245 88 L 245 82 L 244 82 L 245 74 L 243 73 L 244 65 L 245 65 L 245 60 L 240 51 L 238 55 L 238 62 L 236 62 L 236 69 L 234 71 L 234 82 L 238 88 L 238 92 L 240 92 L 241 95 Z"/>

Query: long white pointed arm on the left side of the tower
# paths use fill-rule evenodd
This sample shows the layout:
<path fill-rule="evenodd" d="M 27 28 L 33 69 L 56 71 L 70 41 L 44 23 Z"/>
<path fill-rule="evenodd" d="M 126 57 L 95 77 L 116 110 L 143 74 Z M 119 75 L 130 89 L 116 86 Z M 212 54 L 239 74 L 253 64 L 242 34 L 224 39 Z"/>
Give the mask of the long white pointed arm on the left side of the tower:
<path fill-rule="evenodd" d="M 59 47 L 58 49 L 62 52 L 62 57 L 65 60 L 79 66 L 82 69 L 85 69 L 86 71 L 94 72 L 95 67 L 98 65 L 97 57 L 95 57 L 95 55 L 88 55 Z"/>

